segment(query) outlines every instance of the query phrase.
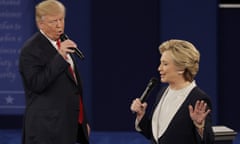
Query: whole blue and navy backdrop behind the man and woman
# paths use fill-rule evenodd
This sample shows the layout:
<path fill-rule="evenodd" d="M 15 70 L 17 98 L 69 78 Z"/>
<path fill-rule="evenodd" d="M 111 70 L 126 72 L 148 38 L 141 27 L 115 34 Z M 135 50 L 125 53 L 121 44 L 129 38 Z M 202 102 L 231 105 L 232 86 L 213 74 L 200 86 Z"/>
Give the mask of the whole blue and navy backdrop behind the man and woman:
<path fill-rule="evenodd" d="M 14 0 L 13 0 L 14 1 Z M 0 0 L 0 128 L 21 127 L 24 110 L 22 82 L 17 69 L 19 50 L 37 28 L 34 6 L 39 0 L 8 5 Z M 134 130 L 129 110 L 151 77 L 159 77 L 158 46 L 168 39 L 191 41 L 201 53 L 197 84 L 213 102 L 213 122 L 239 130 L 237 42 L 239 9 L 219 8 L 217 0 L 61 0 L 66 6 L 68 36 L 85 55 L 79 60 L 84 101 L 93 130 Z M 5 17 L 16 12 L 18 18 Z M 18 24 L 9 30 L 3 23 Z M 13 35 L 18 41 L 3 41 Z M 12 63 L 11 67 L 4 61 Z M 1 77 L 13 73 L 15 78 Z M 161 87 L 159 84 L 158 87 Z M 148 102 L 152 103 L 156 89 Z M 11 99 L 13 98 L 13 99 Z M 14 124 L 10 124 L 14 122 Z"/>

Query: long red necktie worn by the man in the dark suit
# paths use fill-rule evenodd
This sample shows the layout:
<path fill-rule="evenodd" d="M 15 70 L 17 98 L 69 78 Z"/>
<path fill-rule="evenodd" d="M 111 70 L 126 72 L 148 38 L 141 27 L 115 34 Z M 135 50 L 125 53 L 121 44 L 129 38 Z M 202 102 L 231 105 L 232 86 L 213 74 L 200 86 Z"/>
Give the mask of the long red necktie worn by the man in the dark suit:
<path fill-rule="evenodd" d="M 60 46 L 61 46 L 61 41 L 60 40 L 57 40 L 57 47 L 58 49 L 60 49 Z M 67 58 L 66 58 L 67 59 Z M 69 71 L 70 73 L 72 74 L 75 82 L 77 83 L 77 79 L 76 79 L 76 75 L 75 75 L 75 72 L 74 70 L 72 69 L 71 65 L 69 66 Z M 78 116 L 78 122 L 80 124 L 82 124 L 83 122 L 83 103 L 82 103 L 82 97 L 80 96 L 80 104 L 79 104 L 79 116 Z"/>

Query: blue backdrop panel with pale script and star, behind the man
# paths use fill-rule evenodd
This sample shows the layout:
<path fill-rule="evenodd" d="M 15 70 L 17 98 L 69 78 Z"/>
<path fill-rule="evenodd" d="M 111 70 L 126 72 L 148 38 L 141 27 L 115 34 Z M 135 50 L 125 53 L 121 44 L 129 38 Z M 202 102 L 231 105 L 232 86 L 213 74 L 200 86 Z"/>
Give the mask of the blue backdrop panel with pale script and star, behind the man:
<path fill-rule="evenodd" d="M 24 110 L 18 56 L 35 27 L 33 10 L 32 1 L 0 0 L 0 115 L 19 115 Z"/>

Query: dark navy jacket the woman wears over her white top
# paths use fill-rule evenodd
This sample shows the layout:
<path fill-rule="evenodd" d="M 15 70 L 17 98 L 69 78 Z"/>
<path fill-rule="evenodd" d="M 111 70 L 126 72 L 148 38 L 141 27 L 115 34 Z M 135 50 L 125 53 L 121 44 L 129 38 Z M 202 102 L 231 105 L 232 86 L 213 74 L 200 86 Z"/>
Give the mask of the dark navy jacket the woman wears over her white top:
<path fill-rule="evenodd" d="M 156 105 L 159 103 L 165 90 L 166 88 L 160 90 L 153 109 L 155 109 Z M 164 134 L 158 139 L 158 144 L 213 144 L 214 137 L 211 127 L 211 114 L 206 118 L 203 139 L 201 139 L 190 118 L 188 106 L 190 104 L 194 106 L 197 100 L 204 100 L 211 109 L 209 97 L 199 87 L 195 87 L 171 120 Z M 144 116 L 139 126 L 142 129 L 141 133 L 146 138 L 150 139 L 152 143 L 156 143 L 152 134 L 151 118 L 148 119 Z"/>

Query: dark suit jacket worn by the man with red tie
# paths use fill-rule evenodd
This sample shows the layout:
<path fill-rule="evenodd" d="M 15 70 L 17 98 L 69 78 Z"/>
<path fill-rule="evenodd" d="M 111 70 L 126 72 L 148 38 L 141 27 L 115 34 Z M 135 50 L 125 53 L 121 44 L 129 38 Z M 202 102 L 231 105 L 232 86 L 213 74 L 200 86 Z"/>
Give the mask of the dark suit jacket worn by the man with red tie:
<path fill-rule="evenodd" d="M 81 80 L 76 63 L 78 84 L 68 67 L 40 32 L 21 49 L 19 71 L 26 96 L 23 144 L 75 144 L 80 140 L 88 143 L 86 119 L 78 124 Z"/>

